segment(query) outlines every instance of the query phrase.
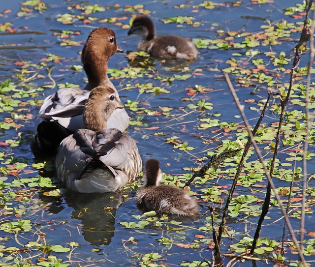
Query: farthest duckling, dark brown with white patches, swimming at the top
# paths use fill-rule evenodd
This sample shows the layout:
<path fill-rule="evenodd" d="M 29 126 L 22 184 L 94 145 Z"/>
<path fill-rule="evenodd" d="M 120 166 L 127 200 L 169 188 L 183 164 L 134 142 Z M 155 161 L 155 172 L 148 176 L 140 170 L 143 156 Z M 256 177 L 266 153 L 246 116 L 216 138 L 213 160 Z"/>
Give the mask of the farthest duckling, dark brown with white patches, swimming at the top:
<path fill-rule="evenodd" d="M 198 55 L 196 47 L 189 41 L 178 35 L 156 36 L 153 21 L 144 15 L 137 16 L 132 22 L 128 35 L 138 34 L 142 41 L 138 49 L 149 53 L 153 57 L 163 59 L 195 59 Z"/>

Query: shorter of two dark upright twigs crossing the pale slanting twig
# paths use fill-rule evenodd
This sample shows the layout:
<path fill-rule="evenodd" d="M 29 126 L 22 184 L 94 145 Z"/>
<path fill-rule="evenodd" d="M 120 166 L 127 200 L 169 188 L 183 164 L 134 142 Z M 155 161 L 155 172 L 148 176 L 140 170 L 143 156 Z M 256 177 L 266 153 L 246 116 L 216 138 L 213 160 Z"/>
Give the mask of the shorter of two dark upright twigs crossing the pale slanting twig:
<path fill-rule="evenodd" d="M 254 127 L 254 129 L 252 130 L 252 135 L 255 136 L 259 126 L 260 126 L 260 123 L 261 123 L 261 120 L 263 119 L 264 115 L 265 115 L 265 111 L 266 111 L 266 108 L 267 108 L 267 105 L 269 103 L 269 100 L 270 100 L 270 95 L 271 93 L 269 92 L 268 93 L 268 98 L 266 100 L 266 103 L 262 109 L 262 112 L 260 114 L 260 117 Z M 245 161 L 245 158 L 247 156 L 247 153 L 248 151 L 250 150 L 250 147 L 252 145 L 252 141 L 251 139 L 249 138 L 246 145 L 245 145 L 245 148 L 244 148 L 244 152 L 243 152 L 243 155 L 242 155 L 242 158 L 240 160 L 240 163 L 238 165 L 238 168 L 237 168 L 237 171 L 236 171 L 236 174 L 235 174 L 235 177 L 233 179 L 233 183 L 232 183 L 232 186 L 231 186 L 231 189 L 230 189 L 230 192 L 228 194 L 228 197 L 227 197 L 227 200 L 226 200 L 226 203 L 225 203 L 225 208 L 223 210 L 223 215 L 222 215 L 222 220 L 221 220 L 221 224 L 220 224 L 220 227 L 219 227 L 219 233 L 218 233 L 218 241 L 220 243 L 221 241 L 221 237 L 222 237 L 222 233 L 223 233 L 223 226 L 225 224 L 225 217 L 227 215 L 227 211 L 228 211 L 228 207 L 232 201 L 232 198 L 233 198 L 233 193 L 234 193 L 234 190 L 236 188 L 236 184 L 237 184 L 237 181 L 238 181 L 238 178 L 240 177 L 241 173 L 242 173 L 242 169 L 243 169 L 243 166 L 244 166 L 244 161 Z"/>

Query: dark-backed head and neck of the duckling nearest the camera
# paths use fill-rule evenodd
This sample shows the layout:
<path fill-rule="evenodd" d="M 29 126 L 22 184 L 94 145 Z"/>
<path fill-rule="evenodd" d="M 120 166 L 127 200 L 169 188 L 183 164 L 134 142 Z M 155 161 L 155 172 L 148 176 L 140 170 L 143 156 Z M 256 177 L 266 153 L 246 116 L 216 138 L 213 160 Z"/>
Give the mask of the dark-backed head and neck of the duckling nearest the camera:
<path fill-rule="evenodd" d="M 159 162 L 156 159 L 149 159 L 143 172 L 143 179 L 145 180 L 144 187 L 158 186 L 162 178 L 162 170 L 159 168 Z"/>

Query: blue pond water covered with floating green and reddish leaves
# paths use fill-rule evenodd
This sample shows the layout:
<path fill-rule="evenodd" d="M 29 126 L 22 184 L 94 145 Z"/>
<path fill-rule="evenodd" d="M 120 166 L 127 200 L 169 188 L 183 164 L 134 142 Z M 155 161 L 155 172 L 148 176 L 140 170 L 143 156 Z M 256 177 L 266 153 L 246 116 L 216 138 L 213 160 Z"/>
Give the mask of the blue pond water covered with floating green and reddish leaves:
<path fill-rule="evenodd" d="M 79 53 L 92 29 L 108 27 L 115 31 L 125 51 L 110 59 L 109 76 L 131 118 L 128 134 L 138 142 L 144 162 L 151 157 L 160 161 L 166 174 L 164 182 L 183 186 L 194 169 L 208 162 L 214 152 L 245 144 L 244 122 L 222 70 L 229 73 L 252 125 L 259 118 L 268 91 L 276 91 L 257 137 L 268 162 L 279 121 L 279 92 L 287 88 L 287 69 L 305 15 L 302 9 L 292 9 L 287 14 L 284 10 L 298 8 L 299 4 L 294 0 L 1 2 L 0 82 L 10 79 L 11 84 L 2 84 L 0 90 L 0 266 L 208 266 L 203 262 L 203 258 L 212 262 L 213 255 L 208 202 L 215 208 L 215 222 L 219 225 L 240 154 L 190 186 L 200 206 L 200 217 L 141 217 L 133 199 L 141 181 L 111 194 L 66 192 L 55 178 L 53 159 L 32 153 L 33 123 L 45 96 L 65 83 L 84 85 L 86 76 L 78 67 Z M 90 13 L 91 6 L 94 9 Z M 199 46 L 198 59 L 165 61 L 136 56 L 139 37 L 127 36 L 127 29 L 132 15 L 140 13 L 150 15 L 158 34 L 193 39 Z M 167 21 L 176 17 L 177 20 Z M 306 52 L 301 56 L 301 69 L 287 109 L 284 140 L 274 174 L 285 205 L 292 179 L 290 170 L 294 163 L 296 169 L 302 168 L 302 161 L 294 161 L 294 156 L 303 148 L 305 90 L 300 84 L 306 84 L 302 68 L 308 60 Z M 314 88 L 312 95 L 314 99 Z M 311 246 L 305 257 L 312 266 L 314 131 L 310 139 L 304 239 L 305 247 Z M 231 209 L 226 218 L 222 254 L 233 251 L 230 245 L 253 237 L 261 211 L 267 179 L 253 152 L 247 162 L 234 193 L 236 198 L 243 196 L 243 200 L 239 198 L 232 205 L 243 206 L 239 211 Z M 295 178 L 289 215 L 297 230 L 302 199 L 299 171 Z M 50 187 L 50 180 L 54 187 Z M 277 256 L 284 219 L 276 203 L 268 216 L 260 237 L 279 242 L 262 245 L 274 251 L 254 255 L 262 260 L 243 262 L 224 256 L 224 266 L 283 264 Z M 26 226 L 21 226 L 21 220 Z M 286 232 L 285 240 L 289 239 Z M 237 250 L 236 254 L 240 252 Z M 290 261 L 294 266 L 298 260 L 289 241 L 285 243 L 284 257 L 284 265 Z"/>

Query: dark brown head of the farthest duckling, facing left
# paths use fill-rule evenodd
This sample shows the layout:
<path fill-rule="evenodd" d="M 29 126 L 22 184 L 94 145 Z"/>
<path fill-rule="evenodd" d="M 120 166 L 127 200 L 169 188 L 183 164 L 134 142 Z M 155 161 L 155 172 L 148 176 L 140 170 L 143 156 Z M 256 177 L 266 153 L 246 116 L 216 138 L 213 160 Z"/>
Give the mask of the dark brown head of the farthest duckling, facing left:
<path fill-rule="evenodd" d="M 143 40 L 152 40 L 156 35 L 156 30 L 153 21 L 144 15 L 137 16 L 133 22 L 128 35 L 137 34 L 140 35 Z"/>

